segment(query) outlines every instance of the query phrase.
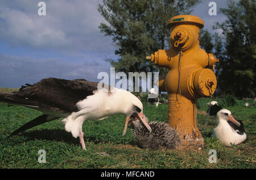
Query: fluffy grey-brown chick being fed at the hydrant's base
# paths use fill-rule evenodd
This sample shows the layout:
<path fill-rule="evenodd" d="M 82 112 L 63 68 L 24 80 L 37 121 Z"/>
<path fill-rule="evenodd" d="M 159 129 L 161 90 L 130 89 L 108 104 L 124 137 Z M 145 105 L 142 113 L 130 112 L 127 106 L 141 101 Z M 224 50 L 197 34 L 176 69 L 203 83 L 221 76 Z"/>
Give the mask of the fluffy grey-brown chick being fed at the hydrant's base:
<path fill-rule="evenodd" d="M 148 122 L 148 120 L 147 120 Z M 133 113 L 129 121 L 129 127 L 132 129 L 135 139 L 142 148 L 175 149 L 180 144 L 180 137 L 177 131 L 166 123 L 150 122 L 152 132 L 150 133 L 138 115 Z"/>

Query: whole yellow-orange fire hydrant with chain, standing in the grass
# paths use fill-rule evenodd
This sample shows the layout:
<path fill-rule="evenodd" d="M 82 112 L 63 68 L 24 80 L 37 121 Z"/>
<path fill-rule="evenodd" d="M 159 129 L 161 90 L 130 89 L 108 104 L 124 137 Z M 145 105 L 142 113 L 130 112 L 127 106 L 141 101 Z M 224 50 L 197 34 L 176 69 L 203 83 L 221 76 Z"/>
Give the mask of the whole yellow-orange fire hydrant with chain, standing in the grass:
<path fill-rule="evenodd" d="M 203 145 L 196 122 L 196 104 L 198 98 L 209 97 L 216 90 L 213 70 L 218 59 L 200 48 L 200 28 L 204 22 L 199 17 L 174 16 L 168 27 L 171 48 L 159 49 L 147 59 L 170 70 L 166 77 L 159 78 L 159 91 L 168 93 L 168 124 L 179 132 L 183 145 Z"/>

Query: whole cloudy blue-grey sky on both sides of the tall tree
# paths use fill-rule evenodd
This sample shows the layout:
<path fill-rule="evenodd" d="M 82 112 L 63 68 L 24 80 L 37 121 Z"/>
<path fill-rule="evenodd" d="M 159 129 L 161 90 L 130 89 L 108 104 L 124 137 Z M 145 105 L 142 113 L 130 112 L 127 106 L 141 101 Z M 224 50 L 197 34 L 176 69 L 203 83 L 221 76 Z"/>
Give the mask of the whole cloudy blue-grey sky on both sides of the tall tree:
<path fill-rule="evenodd" d="M 105 23 L 97 11 L 102 0 L 44 0 L 46 16 L 38 15 L 38 2 L 0 2 L 0 87 L 20 87 L 48 77 L 100 81 L 99 72 L 110 72 L 105 58 L 117 58 L 112 37 L 98 28 Z M 210 16 L 209 2 L 203 0 L 192 15 L 203 19 L 204 28 L 212 32 L 213 23 L 223 22 L 225 16 L 218 11 Z M 217 9 L 226 7 L 226 1 L 214 2 Z"/>

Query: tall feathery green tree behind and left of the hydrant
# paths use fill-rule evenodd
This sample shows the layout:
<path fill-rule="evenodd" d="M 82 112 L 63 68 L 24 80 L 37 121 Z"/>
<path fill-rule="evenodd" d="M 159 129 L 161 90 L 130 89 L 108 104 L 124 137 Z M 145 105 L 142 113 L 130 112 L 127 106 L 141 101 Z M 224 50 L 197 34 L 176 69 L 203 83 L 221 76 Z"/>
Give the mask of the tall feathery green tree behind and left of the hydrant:
<path fill-rule="evenodd" d="M 172 16 L 189 14 L 200 0 L 104 0 L 98 11 L 108 24 L 100 30 L 112 36 L 118 60 L 107 59 L 122 72 L 159 72 L 158 66 L 146 60 L 158 49 L 169 46 L 167 23 Z M 161 69 L 160 74 L 167 70 Z"/>

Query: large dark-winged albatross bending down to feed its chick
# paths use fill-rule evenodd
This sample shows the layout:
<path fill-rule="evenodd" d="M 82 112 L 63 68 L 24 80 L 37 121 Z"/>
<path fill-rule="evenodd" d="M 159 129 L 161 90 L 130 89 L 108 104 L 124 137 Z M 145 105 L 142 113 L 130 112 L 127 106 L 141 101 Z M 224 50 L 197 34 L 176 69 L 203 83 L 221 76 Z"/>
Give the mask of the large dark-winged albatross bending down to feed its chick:
<path fill-rule="evenodd" d="M 54 119 L 65 118 L 63 119 L 65 130 L 71 132 L 75 138 L 79 136 L 82 149 L 85 149 L 82 132 L 82 123 L 85 120 L 123 114 L 127 117 L 123 131 L 125 135 L 127 124 L 133 113 L 138 115 L 151 132 L 144 118 L 143 105 L 135 95 L 114 87 L 113 92 L 106 89 L 98 90 L 97 86 L 97 82 L 85 79 L 70 81 L 46 78 L 34 85 L 22 86 L 16 93 L 0 94 L 0 102 L 30 107 L 43 112 L 43 115 L 16 129 L 10 136 Z"/>

